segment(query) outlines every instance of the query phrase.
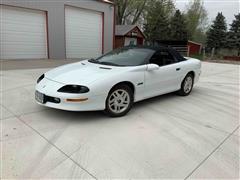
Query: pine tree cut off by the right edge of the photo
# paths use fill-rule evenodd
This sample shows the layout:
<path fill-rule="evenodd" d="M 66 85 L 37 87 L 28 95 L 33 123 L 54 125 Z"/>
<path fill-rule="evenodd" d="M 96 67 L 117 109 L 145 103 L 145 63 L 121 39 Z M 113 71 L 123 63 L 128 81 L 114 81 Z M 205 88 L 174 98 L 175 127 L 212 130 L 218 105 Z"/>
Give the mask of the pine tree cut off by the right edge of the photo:
<path fill-rule="evenodd" d="M 238 56 L 240 56 L 240 13 L 235 15 L 235 19 L 230 26 L 227 36 L 227 47 L 237 49 Z"/>

